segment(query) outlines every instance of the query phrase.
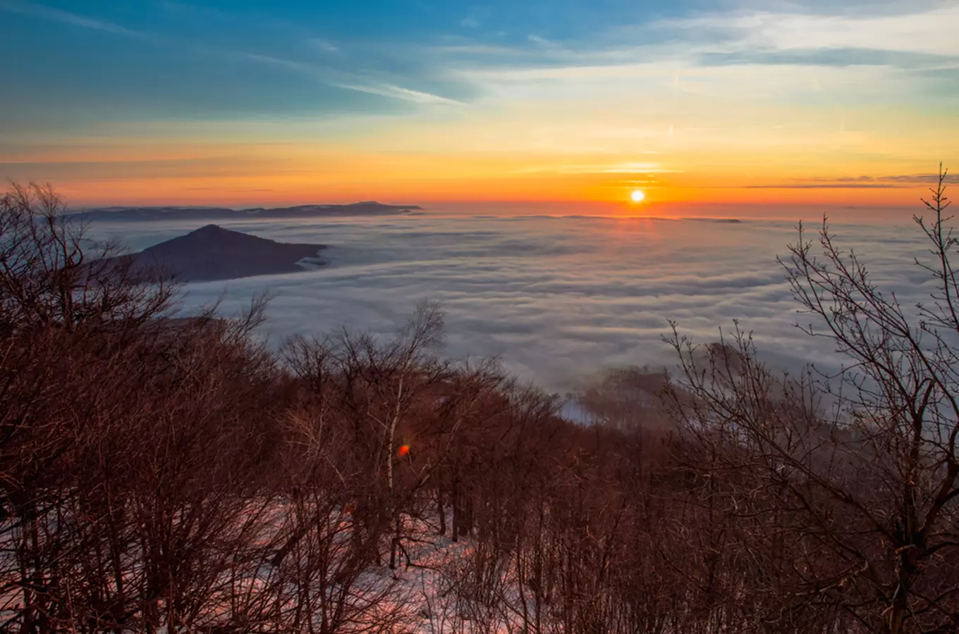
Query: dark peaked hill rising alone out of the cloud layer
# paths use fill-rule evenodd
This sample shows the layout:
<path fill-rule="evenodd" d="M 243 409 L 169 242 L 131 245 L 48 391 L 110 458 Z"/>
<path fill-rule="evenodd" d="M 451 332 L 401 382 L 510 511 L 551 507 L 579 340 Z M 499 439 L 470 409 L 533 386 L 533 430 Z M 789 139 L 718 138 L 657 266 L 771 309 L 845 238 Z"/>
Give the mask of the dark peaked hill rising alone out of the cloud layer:
<path fill-rule="evenodd" d="M 181 282 L 233 280 L 294 273 L 326 262 L 322 244 L 276 242 L 208 224 L 185 236 L 125 256 L 134 265 L 160 266 Z"/>

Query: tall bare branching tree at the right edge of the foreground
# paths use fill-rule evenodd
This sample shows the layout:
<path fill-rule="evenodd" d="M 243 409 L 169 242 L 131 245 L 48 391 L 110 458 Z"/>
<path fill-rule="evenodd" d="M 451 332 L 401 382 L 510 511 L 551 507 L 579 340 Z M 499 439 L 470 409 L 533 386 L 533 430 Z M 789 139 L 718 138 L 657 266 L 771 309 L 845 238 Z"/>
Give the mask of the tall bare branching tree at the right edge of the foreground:
<path fill-rule="evenodd" d="M 937 287 L 931 304 L 901 306 L 825 220 L 821 257 L 800 227 L 783 265 L 820 325 L 802 328 L 849 360 L 840 374 L 777 377 L 739 331 L 735 368 L 716 353 L 697 363 L 689 341 L 671 340 L 690 393 L 672 402 L 712 457 L 708 477 L 722 478 L 726 512 L 742 522 L 740 548 L 762 573 L 743 591 L 765 597 L 763 622 L 888 634 L 959 627 L 959 286 L 946 181 L 940 170 L 924 201 L 932 219 L 915 218 L 931 242 L 932 258 L 917 260 Z"/>

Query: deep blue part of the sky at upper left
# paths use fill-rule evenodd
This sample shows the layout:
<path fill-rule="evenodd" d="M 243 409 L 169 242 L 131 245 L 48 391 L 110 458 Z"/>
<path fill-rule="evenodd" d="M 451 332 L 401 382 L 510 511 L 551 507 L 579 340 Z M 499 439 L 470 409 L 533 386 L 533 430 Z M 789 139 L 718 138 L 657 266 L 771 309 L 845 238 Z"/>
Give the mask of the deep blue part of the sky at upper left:
<path fill-rule="evenodd" d="M 479 87 L 444 72 L 450 57 L 515 64 L 528 56 L 555 63 L 550 43 L 588 42 L 618 25 L 674 17 L 696 6 L 0 0 L 0 54 L 12 62 L 0 72 L 16 88 L 3 100 L 4 114 L 46 124 L 397 112 L 409 103 L 429 103 L 431 96 L 469 101 Z"/>

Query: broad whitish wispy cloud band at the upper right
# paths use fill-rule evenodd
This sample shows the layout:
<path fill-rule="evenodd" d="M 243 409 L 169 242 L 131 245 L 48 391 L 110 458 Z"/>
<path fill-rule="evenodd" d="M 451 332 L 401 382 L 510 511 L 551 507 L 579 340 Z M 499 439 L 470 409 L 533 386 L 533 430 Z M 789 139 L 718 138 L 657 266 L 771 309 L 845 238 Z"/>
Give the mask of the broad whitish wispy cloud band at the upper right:
<path fill-rule="evenodd" d="M 444 47 L 480 82 L 615 79 L 710 66 L 959 68 L 959 2 L 896 15 L 724 11 L 624 24 L 565 41 Z"/>

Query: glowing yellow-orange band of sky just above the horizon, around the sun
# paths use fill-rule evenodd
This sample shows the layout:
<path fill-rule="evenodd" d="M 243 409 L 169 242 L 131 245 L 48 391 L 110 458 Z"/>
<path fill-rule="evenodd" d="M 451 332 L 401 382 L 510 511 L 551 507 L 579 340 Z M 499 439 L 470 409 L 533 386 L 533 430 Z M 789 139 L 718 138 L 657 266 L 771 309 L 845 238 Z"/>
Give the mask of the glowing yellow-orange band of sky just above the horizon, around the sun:
<path fill-rule="evenodd" d="M 909 206 L 959 139 L 956 118 L 868 104 L 844 113 L 855 125 L 780 104 L 710 129 L 643 113 L 642 102 L 615 116 L 573 105 L 581 111 L 473 108 L 443 124 L 431 113 L 378 118 L 334 139 L 307 121 L 194 124 L 192 137 L 144 125 L 152 134 L 24 147 L 17 158 L 30 169 L 13 176 L 48 180 L 76 205 L 620 201 L 641 189 L 649 205 Z M 162 138 L 167 128 L 178 134 Z"/>

